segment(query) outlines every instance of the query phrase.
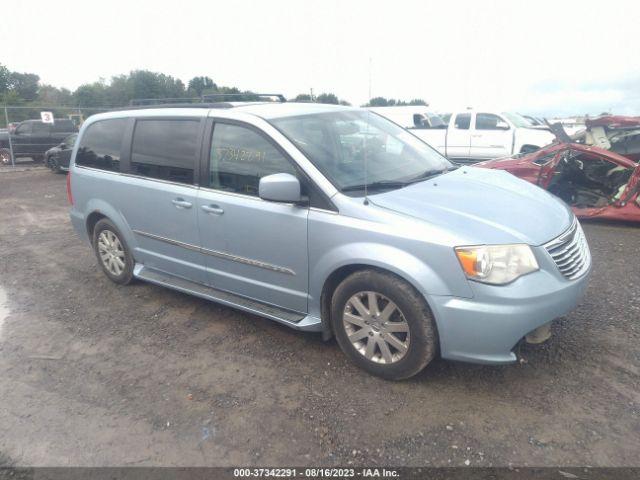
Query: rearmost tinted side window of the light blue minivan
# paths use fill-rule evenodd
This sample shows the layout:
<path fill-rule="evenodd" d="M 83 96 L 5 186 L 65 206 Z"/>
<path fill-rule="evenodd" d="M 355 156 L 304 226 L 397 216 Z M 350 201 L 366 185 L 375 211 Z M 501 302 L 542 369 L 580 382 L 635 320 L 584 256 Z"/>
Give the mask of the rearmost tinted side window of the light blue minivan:
<path fill-rule="evenodd" d="M 76 165 L 120 171 L 120 149 L 127 126 L 125 118 L 100 120 L 87 127 L 80 139 Z"/>

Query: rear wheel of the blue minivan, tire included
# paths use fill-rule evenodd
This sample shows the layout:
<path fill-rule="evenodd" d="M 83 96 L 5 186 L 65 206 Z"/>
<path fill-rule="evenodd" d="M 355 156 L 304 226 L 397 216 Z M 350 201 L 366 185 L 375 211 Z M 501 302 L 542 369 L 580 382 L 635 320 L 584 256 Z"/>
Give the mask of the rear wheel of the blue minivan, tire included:
<path fill-rule="evenodd" d="M 133 280 L 133 256 L 124 237 L 110 220 L 103 218 L 93 229 L 93 250 L 109 280 L 127 285 Z"/>

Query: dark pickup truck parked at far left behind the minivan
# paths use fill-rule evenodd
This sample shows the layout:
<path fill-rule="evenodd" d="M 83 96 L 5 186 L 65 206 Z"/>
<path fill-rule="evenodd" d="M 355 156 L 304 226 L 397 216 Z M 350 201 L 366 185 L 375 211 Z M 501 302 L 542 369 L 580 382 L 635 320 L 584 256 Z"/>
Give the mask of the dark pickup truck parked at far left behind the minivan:
<path fill-rule="evenodd" d="M 9 136 L 16 158 L 31 157 L 41 160 L 44 159 L 47 150 L 77 131 L 75 124 L 66 118 L 56 119 L 55 123 L 44 123 L 40 120 L 20 122 L 13 132 L 0 132 L 0 164 L 11 163 Z"/>

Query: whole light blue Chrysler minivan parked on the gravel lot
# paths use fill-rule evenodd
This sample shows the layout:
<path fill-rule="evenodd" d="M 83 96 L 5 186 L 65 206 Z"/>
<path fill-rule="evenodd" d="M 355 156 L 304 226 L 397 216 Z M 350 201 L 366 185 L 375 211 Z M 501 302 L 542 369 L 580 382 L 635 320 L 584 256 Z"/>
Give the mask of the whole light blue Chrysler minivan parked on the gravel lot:
<path fill-rule="evenodd" d="M 365 370 L 501 364 L 573 309 L 591 256 L 559 199 L 456 167 L 367 110 L 216 103 L 90 117 L 71 220 L 114 282 L 141 279 L 335 335 Z M 538 338 L 540 335 L 538 335 Z"/>

